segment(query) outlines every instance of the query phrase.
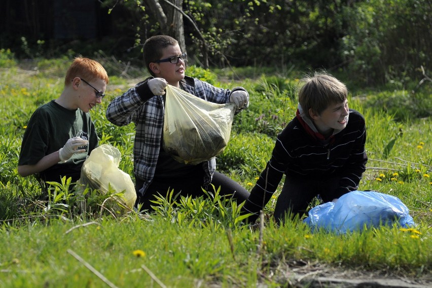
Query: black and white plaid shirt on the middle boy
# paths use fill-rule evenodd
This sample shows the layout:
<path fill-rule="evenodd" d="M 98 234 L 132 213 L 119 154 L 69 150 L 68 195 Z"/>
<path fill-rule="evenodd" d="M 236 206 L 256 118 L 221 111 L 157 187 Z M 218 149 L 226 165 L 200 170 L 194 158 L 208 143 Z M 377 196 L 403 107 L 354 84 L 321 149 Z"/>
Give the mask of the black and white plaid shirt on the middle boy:
<path fill-rule="evenodd" d="M 155 175 L 165 114 L 163 97 L 153 95 L 148 86 L 148 80 L 152 78 L 139 82 L 115 98 L 105 113 L 106 118 L 117 126 L 124 126 L 130 122 L 136 125 L 133 148 L 134 174 L 145 182 L 141 193 L 151 184 Z M 245 90 L 242 87 L 233 90 L 222 89 L 188 76 L 181 81 L 181 87 L 201 99 L 218 104 L 228 103 L 233 91 Z M 202 165 L 205 171 L 204 185 L 207 185 L 216 170 L 216 160 L 213 157 Z"/>

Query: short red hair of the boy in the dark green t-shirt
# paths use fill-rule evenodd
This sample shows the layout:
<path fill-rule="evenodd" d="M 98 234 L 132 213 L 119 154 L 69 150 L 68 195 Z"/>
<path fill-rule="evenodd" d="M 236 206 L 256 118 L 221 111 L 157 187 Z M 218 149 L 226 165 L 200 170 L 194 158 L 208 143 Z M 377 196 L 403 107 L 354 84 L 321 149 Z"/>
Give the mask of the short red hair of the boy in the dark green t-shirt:
<path fill-rule="evenodd" d="M 99 62 L 81 56 L 76 57 L 67 69 L 64 85 L 69 85 L 75 77 L 83 78 L 89 82 L 96 79 L 102 79 L 106 84 L 109 82 L 108 74 Z"/>

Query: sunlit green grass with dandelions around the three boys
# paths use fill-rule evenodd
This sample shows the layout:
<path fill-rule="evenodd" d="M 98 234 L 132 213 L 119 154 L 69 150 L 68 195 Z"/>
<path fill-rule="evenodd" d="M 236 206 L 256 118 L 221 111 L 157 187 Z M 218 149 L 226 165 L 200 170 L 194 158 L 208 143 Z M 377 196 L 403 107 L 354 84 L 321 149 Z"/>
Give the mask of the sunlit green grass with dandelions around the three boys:
<path fill-rule="evenodd" d="M 374 88 L 377 92 L 351 91 L 349 99 L 350 107 L 367 121 L 370 160 L 359 188 L 399 197 L 410 209 L 415 229 L 380 227 L 334 235 L 311 233 L 300 221 L 276 227 L 269 220 L 273 198 L 265 208 L 260 239 L 257 227 L 242 224 L 239 207 L 216 192 L 210 200 L 175 199 L 174 195 L 170 200 L 160 199 L 155 203 L 157 212 L 150 216 L 112 210 L 102 204 L 110 195 L 101 196 L 97 190 L 87 191 L 86 212 L 81 213 L 79 199 L 69 193 L 67 182 L 53 187 L 50 199 L 45 199 L 39 183 L 33 177 L 20 177 L 16 166 L 32 111 L 61 92 L 65 59 L 33 63 L 31 67 L 43 70 L 30 72 L 22 71 L 25 67 L 5 52 L 0 59 L 0 286 L 104 286 L 98 271 L 118 287 L 157 287 L 157 281 L 169 287 L 257 283 L 278 287 L 296 283 L 287 276 L 293 273 L 286 272 L 294 261 L 414 279 L 430 276 L 432 124 L 430 114 L 424 114 L 432 111 L 429 83 L 416 90 L 412 96 L 416 101 L 407 102 L 403 90 L 389 87 Z M 119 63 L 100 61 L 114 75 L 92 118 L 100 144 L 119 148 L 120 169 L 132 175 L 134 127 L 112 125 L 104 111 L 110 100 L 137 80 L 122 76 Z M 250 92 L 250 106 L 235 116 L 230 142 L 218 157 L 218 169 L 250 189 L 269 159 L 277 133 L 296 111 L 295 92 L 302 72 L 241 81 L 224 76 L 221 84 L 208 72 L 191 71 L 217 86 L 241 85 Z M 257 75 L 254 70 L 239 71 Z M 398 109 L 389 109 L 389 100 L 394 98 L 398 106 L 393 108 Z M 417 111 L 418 103 L 421 109 Z M 174 201 L 176 208 L 171 205 Z"/>

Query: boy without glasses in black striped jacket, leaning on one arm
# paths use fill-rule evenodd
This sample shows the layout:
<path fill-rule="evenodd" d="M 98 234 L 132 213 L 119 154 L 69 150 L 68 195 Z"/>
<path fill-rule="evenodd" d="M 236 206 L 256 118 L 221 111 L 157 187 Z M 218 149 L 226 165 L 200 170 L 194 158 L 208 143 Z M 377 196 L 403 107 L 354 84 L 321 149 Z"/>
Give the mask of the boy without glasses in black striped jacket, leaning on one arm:
<path fill-rule="evenodd" d="M 302 216 L 312 199 L 336 202 L 356 190 L 368 161 L 364 117 L 348 108 L 346 86 L 325 73 L 303 79 L 296 117 L 277 136 L 270 161 L 242 208 L 253 223 L 283 174 L 276 201 L 277 223 Z M 349 121 L 348 121 L 349 118 Z"/>

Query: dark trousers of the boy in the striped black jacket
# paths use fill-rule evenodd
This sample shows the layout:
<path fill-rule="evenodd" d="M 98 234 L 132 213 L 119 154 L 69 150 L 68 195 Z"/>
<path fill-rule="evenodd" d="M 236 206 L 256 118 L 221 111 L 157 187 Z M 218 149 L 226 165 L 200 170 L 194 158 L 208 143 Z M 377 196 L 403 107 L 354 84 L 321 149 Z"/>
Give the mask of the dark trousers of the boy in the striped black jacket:
<path fill-rule="evenodd" d="M 325 181 L 308 179 L 298 180 L 285 177 L 282 190 L 277 198 L 274 208 L 274 219 L 276 223 L 284 220 L 289 215 L 292 218 L 303 216 L 308 205 L 316 196 L 320 196 L 323 202 L 330 202 L 340 195 L 335 193 L 339 186 L 340 178 L 330 178 Z"/>

